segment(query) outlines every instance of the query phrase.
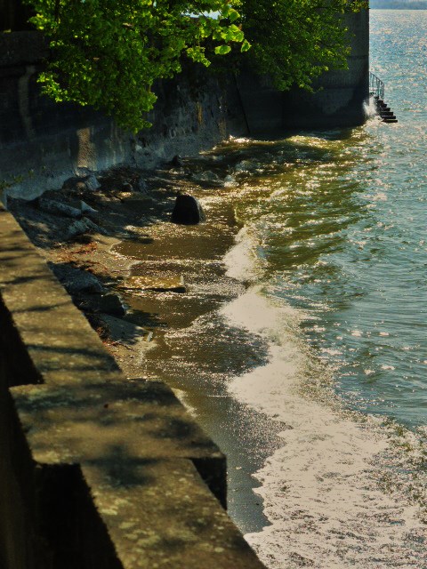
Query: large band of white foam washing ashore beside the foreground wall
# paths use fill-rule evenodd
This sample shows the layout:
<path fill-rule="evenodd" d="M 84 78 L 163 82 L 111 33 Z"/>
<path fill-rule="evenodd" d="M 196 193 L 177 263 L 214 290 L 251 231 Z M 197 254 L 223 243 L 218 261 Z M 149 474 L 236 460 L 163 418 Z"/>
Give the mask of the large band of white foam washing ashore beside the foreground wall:
<path fill-rule="evenodd" d="M 271 525 L 246 540 L 272 569 L 427 567 L 420 508 L 380 485 L 392 450 L 379 421 L 303 395 L 310 355 L 293 333 L 297 313 L 260 292 L 222 309 L 233 325 L 270 340 L 269 363 L 235 378 L 230 392 L 285 423 L 283 447 L 256 474 Z"/>

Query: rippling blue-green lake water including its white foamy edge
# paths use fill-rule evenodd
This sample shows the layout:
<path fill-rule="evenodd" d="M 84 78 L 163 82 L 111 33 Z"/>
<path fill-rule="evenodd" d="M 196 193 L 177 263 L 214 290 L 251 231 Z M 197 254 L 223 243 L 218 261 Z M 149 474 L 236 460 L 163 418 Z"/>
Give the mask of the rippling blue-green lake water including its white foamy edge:
<path fill-rule="evenodd" d="M 270 346 L 229 390 L 286 426 L 246 536 L 274 568 L 427 567 L 427 12 L 372 11 L 371 39 L 398 124 L 221 150 L 252 283 L 222 316 Z"/>

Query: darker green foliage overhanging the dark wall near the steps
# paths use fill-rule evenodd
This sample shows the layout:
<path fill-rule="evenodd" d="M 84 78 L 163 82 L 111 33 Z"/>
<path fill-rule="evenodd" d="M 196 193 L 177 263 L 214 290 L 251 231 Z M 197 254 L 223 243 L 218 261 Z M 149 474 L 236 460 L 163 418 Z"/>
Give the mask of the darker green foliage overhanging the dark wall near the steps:
<path fill-rule="evenodd" d="M 279 90 L 293 84 L 311 90 L 329 68 L 347 68 L 350 37 L 342 16 L 366 7 L 363 0 L 244 0 L 247 55 Z"/>

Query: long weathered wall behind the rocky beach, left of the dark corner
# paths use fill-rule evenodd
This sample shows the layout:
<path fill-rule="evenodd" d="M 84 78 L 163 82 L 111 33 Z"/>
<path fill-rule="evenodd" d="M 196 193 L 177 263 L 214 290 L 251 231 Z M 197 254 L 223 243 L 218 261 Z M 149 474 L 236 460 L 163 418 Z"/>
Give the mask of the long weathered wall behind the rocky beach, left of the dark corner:
<path fill-rule="evenodd" d="M 31 199 L 114 164 L 150 168 L 227 136 L 223 89 L 203 68 L 157 84 L 153 126 L 133 136 L 101 113 L 40 96 L 36 75 L 47 54 L 36 32 L 0 34 L 0 181 L 12 182 L 10 196 Z"/>

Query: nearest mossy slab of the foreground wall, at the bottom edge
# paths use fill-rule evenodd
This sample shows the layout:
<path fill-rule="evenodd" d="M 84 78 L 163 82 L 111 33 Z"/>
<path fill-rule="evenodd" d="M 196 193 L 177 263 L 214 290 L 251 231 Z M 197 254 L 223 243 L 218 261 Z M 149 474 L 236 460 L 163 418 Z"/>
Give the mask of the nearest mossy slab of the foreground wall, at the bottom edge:
<path fill-rule="evenodd" d="M 82 471 L 124 569 L 262 569 L 190 461 Z"/>

